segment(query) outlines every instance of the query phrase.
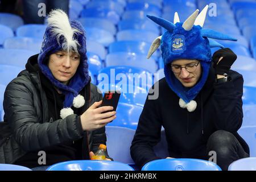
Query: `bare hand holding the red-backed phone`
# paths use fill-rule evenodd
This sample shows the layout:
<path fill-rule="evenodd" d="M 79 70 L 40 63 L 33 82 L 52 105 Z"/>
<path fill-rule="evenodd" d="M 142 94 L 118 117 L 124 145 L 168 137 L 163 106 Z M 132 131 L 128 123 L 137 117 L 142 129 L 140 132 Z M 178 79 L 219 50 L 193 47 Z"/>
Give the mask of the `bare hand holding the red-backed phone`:
<path fill-rule="evenodd" d="M 112 106 L 102 106 L 100 102 L 94 102 L 81 116 L 82 130 L 92 131 L 104 127 L 110 121 L 113 121 L 117 116 Z M 102 113 L 109 111 L 107 113 Z"/>

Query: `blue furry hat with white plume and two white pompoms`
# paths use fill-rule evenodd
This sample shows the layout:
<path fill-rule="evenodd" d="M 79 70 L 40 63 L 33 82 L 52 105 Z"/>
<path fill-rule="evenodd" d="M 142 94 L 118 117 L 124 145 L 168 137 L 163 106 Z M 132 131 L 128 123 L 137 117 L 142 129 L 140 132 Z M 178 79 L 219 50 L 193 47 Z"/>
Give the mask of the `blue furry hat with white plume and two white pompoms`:
<path fill-rule="evenodd" d="M 65 118 L 73 114 L 72 106 L 79 108 L 85 104 L 84 97 L 79 94 L 89 82 L 85 30 L 80 22 L 69 20 L 68 15 L 60 9 L 52 10 L 47 17 L 47 22 L 38 65 L 52 84 L 65 94 L 63 109 L 60 110 L 60 117 Z M 47 57 L 61 50 L 68 53 L 73 51 L 80 55 L 79 67 L 68 85 L 56 80 L 47 65 Z"/>

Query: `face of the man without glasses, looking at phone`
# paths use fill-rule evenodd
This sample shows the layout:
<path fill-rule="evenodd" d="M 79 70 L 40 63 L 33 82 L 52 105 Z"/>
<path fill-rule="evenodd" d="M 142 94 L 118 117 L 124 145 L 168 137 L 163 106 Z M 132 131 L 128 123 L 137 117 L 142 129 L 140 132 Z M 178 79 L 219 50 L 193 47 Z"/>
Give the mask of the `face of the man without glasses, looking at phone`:
<path fill-rule="evenodd" d="M 80 56 L 74 52 L 57 51 L 49 56 L 48 67 L 53 77 L 63 84 L 75 75 L 80 63 Z"/>

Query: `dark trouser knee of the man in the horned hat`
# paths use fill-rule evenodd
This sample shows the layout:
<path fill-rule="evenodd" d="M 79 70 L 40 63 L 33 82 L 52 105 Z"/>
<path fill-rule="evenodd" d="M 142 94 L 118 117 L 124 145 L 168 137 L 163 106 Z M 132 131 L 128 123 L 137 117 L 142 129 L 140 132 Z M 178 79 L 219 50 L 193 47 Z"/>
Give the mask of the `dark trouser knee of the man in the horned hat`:
<path fill-rule="evenodd" d="M 216 163 L 222 170 L 228 170 L 235 160 L 248 158 L 249 154 L 243 150 L 237 138 L 228 131 L 218 130 L 210 135 L 207 142 L 207 152 L 216 154 Z"/>

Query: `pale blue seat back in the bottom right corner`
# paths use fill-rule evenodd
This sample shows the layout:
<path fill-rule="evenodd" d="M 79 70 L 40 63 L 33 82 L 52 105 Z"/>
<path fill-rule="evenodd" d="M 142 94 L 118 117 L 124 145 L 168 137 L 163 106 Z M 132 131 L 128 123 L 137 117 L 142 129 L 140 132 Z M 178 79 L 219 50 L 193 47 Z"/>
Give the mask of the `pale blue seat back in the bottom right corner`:
<path fill-rule="evenodd" d="M 256 158 L 243 158 L 229 165 L 228 171 L 256 171 Z"/>

